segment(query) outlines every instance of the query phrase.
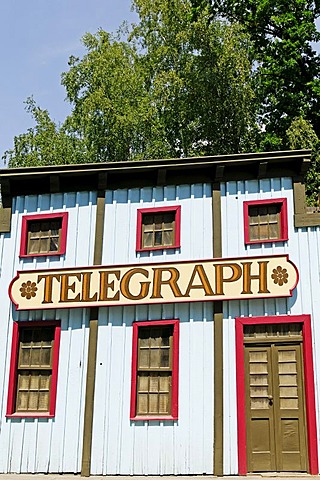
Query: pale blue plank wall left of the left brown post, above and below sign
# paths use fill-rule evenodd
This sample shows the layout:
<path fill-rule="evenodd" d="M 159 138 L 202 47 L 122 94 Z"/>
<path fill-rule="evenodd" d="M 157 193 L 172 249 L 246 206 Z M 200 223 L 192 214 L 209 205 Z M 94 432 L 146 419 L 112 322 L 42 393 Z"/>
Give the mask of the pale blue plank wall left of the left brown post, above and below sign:
<path fill-rule="evenodd" d="M 25 214 L 67 211 L 65 255 L 19 259 Z M 79 472 L 88 351 L 87 309 L 15 312 L 8 286 L 17 270 L 87 266 L 93 263 L 96 194 L 90 192 L 17 197 L 12 228 L 0 235 L 0 472 Z M 13 320 L 61 320 L 56 416 L 6 419 Z"/>

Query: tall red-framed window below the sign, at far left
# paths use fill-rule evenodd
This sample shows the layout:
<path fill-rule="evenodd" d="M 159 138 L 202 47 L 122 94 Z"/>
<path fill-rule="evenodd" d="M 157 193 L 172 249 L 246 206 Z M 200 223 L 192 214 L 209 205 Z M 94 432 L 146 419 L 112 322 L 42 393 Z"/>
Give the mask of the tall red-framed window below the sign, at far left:
<path fill-rule="evenodd" d="M 14 322 L 7 415 L 54 416 L 59 322 Z"/>

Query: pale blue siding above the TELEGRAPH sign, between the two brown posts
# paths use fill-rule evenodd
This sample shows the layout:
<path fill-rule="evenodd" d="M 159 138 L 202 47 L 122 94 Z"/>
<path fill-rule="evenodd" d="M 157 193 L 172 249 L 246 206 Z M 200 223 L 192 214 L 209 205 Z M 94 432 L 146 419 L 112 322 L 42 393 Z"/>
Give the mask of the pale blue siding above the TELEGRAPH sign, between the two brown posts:
<path fill-rule="evenodd" d="M 181 205 L 181 248 L 136 252 L 137 210 Z M 212 257 L 210 184 L 106 193 L 103 263 L 130 264 Z"/>

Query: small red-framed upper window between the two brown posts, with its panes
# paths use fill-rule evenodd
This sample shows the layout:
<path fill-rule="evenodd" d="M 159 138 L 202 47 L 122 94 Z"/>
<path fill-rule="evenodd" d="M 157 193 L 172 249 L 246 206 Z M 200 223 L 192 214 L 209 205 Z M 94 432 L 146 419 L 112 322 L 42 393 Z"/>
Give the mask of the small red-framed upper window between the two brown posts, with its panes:
<path fill-rule="evenodd" d="M 179 248 L 180 219 L 180 206 L 138 210 L 136 250 Z"/>

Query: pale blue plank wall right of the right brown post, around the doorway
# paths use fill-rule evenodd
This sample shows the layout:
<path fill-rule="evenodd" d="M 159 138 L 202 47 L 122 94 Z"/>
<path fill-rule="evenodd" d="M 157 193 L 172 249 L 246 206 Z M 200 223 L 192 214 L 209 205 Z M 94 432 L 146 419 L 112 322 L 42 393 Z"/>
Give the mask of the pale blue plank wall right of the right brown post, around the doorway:
<path fill-rule="evenodd" d="M 292 298 L 230 301 L 224 303 L 224 474 L 238 473 L 235 322 L 238 316 L 310 314 L 312 318 L 316 410 L 320 398 L 320 227 L 295 229 L 293 190 L 290 178 L 227 182 L 221 187 L 222 256 L 289 254 L 299 270 L 299 283 Z M 287 198 L 287 242 L 244 244 L 243 201 Z M 318 421 L 318 440 L 320 438 Z M 318 446 L 318 448 L 320 445 Z"/>

